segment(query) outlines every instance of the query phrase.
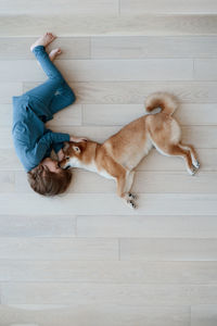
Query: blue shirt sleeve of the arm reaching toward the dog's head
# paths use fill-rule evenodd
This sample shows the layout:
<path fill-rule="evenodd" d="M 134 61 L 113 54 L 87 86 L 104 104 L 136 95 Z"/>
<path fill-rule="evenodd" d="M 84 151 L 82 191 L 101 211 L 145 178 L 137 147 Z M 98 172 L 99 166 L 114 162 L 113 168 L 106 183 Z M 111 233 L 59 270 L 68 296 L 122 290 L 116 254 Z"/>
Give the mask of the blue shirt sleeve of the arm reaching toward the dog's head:
<path fill-rule="evenodd" d="M 53 148 L 54 150 L 59 151 L 63 147 L 64 141 L 69 141 L 68 134 L 52 133 L 51 130 L 47 129 L 47 133 L 35 146 L 35 156 L 40 162 L 44 158 L 48 149 Z"/>

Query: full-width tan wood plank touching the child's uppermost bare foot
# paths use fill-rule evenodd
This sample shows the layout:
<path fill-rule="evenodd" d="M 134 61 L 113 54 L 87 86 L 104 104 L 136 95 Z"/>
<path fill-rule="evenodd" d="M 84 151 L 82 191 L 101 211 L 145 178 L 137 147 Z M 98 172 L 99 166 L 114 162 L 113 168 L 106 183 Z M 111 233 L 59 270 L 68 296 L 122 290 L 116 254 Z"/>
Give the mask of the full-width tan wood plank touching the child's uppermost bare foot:
<path fill-rule="evenodd" d="M 26 28 L 28 26 L 28 28 Z M 112 28 L 111 28 L 112 26 Z M 38 37 L 44 30 L 55 30 L 64 37 L 72 36 L 216 36 L 217 21 L 215 15 L 129 15 L 111 16 L 90 15 L 52 15 L 28 16 L 21 14 L 1 16 L 0 36 Z"/>

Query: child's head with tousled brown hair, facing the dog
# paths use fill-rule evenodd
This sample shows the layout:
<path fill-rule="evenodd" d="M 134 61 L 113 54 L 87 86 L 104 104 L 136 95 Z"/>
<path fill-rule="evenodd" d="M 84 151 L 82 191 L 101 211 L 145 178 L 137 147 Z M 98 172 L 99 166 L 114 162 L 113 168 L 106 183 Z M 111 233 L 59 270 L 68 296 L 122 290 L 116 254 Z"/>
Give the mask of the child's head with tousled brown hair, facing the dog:
<path fill-rule="evenodd" d="M 72 172 L 62 170 L 58 161 L 44 159 L 38 166 L 28 172 L 28 183 L 34 191 L 43 196 L 63 193 L 69 186 Z"/>

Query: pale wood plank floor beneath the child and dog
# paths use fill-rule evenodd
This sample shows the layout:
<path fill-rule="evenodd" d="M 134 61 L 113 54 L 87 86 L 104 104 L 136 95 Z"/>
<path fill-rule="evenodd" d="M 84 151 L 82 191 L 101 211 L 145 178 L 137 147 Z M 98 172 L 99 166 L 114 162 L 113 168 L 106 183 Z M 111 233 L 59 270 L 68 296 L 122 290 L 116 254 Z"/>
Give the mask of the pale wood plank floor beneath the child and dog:
<path fill-rule="evenodd" d="M 141 0 L 93 2 L 110 14 L 144 10 Z M 178 10 L 191 12 L 188 3 Z M 53 130 L 103 141 L 144 113 L 149 93 L 180 101 L 175 116 L 201 170 L 192 177 L 181 159 L 152 150 L 137 168 L 132 211 L 112 180 L 85 171 L 74 171 L 65 196 L 29 189 L 11 98 L 46 80 L 29 52 L 35 34 L 0 37 L 0 326 L 216 326 L 217 36 L 63 34 L 51 47 L 62 48 L 55 63 L 77 95 Z"/>

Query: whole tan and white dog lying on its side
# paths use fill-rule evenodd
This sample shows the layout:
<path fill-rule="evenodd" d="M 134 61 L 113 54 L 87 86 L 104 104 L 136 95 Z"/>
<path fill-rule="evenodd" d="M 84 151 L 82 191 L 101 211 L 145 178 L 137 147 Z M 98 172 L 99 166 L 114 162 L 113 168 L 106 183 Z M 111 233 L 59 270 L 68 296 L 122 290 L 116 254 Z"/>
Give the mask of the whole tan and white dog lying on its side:
<path fill-rule="evenodd" d="M 133 170 L 153 146 L 162 154 L 183 158 L 188 172 L 193 175 L 200 164 L 193 147 L 180 142 L 180 127 L 171 117 L 177 108 L 175 98 L 163 92 L 149 96 L 146 110 L 151 112 L 158 106 L 162 109 L 159 113 L 141 116 L 102 145 L 93 141 L 69 142 L 61 166 L 81 167 L 114 178 L 117 195 L 131 208 L 136 206 L 135 196 L 129 192 Z"/>

